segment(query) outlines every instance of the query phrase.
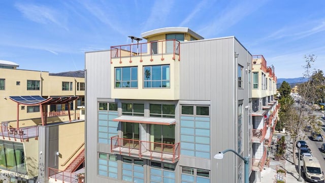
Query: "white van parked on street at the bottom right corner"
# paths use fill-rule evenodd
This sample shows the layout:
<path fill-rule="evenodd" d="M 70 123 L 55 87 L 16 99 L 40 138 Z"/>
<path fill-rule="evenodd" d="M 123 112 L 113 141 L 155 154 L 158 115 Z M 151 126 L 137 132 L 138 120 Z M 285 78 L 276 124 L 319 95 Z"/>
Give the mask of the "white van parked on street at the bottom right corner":
<path fill-rule="evenodd" d="M 310 182 L 324 183 L 324 174 L 320 168 L 319 162 L 315 157 L 304 157 L 303 172 L 305 177 Z"/>

